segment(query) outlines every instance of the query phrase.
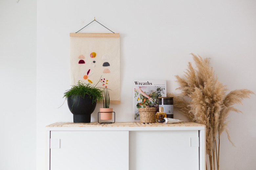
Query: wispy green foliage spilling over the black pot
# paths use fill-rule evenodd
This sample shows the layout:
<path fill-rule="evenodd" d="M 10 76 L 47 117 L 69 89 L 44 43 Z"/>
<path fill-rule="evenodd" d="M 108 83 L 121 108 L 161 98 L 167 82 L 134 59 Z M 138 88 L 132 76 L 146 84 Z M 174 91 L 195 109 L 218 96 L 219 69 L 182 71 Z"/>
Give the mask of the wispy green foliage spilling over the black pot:
<path fill-rule="evenodd" d="M 97 83 L 98 84 L 98 83 Z M 96 85 L 97 85 L 96 84 Z M 103 91 L 100 90 L 100 88 L 93 86 L 91 83 L 85 83 L 83 81 L 78 81 L 77 85 L 73 85 L 70 90 L 67 90 L 64 93 L 65 98 L 68 96 L 75 96 L 79 95 L 80 97 L 83 97 L 87 94 L 89 95 L 90 99 L 93 99 L 93 103 L 102 100 L 102 93 Z"/>

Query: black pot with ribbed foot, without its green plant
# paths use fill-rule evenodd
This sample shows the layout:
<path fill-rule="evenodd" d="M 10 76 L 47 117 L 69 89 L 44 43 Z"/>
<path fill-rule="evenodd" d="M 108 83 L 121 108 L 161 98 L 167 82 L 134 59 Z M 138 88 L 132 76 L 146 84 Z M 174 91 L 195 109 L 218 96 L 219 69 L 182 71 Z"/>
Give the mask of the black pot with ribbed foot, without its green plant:
<path fill-rule="evenodd" d="M 68 107 L 71 113 L 73 113 L 74 123 L 90 123 L 91 114 L 96 108 L 96 102 L 92 103 L 89 95 L 85 95 L 84 98 L 79 95 L 71 95 L 67 97 Z"/>

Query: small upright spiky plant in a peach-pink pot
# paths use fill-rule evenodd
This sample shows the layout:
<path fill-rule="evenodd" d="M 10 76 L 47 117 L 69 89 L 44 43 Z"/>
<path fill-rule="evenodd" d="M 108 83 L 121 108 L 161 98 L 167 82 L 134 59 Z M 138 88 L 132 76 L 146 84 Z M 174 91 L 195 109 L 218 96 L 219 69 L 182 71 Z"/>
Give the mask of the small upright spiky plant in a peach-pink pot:
<path fill-rule="evenodd" d="M 111 120 L 112 119 L 113 108 L 109 108 L 110 98 L 109 98 L 108 90 L 109 89 L 106 86 L 106 88 L 104 88 L 104 90 L 102 92 L 103 108 L 99 108 L 101 120 Z"/>

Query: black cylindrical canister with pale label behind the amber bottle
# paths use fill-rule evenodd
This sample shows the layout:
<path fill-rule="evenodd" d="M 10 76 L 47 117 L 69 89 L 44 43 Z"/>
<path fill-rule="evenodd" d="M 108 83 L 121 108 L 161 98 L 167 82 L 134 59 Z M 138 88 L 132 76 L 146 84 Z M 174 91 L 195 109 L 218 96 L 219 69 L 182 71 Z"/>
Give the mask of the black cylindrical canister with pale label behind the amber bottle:
<path fill-rule="evenodd" d="M 163 107 L 166 117 L 173 118 L 173 97 L 158 97 L 159 107 Z"/>

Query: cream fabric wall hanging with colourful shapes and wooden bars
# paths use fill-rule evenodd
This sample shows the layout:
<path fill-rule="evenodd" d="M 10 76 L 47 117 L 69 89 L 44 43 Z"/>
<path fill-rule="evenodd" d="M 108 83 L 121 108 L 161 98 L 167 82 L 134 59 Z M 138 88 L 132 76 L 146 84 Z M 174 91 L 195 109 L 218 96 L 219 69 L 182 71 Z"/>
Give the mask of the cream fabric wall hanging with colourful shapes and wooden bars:
<path fill-rule="evenodd" d="M 71 84 L 78 80 L 110 89 L 110 103 L 120 104 L 118 33 L 70 33 Z"/>

